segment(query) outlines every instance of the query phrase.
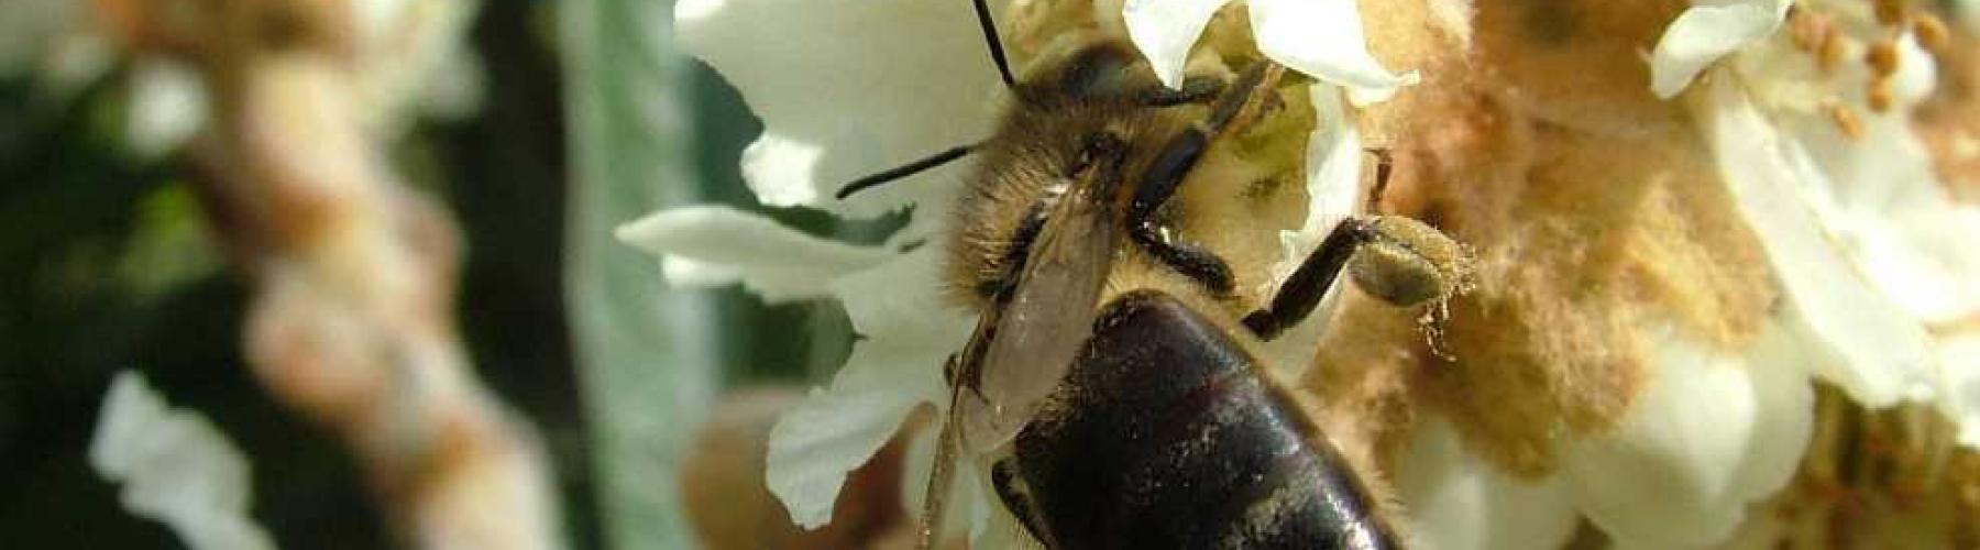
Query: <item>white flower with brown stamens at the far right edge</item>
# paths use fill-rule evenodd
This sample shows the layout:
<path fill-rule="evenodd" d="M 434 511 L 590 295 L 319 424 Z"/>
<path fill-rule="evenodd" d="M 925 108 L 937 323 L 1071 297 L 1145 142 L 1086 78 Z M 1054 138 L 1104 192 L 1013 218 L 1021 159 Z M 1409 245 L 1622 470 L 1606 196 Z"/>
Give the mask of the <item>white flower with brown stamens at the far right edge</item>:
<path fill-rule="evenodd" d="M 1780 32 L 1780 8 L 1715 2 L 1679 16 L 1651 63 L 1657 93 L 1709 75 L 1689 105 L 1780 277 L 1790 332 L 1816 350 L 1814 376 L 1871 408 L 1930 402 L 1980 445 L 1980 364 L 1962 350 L 1974 334 L 1930 330 L 1980 317 L 1980 210 L 1946 196 L 1909 125 L 1934 59 L 1867 6 L 1800 4 L 1830 18 L 1828 53 Z M 1853 61 L 1873 47 L 1895 71 Z"/>

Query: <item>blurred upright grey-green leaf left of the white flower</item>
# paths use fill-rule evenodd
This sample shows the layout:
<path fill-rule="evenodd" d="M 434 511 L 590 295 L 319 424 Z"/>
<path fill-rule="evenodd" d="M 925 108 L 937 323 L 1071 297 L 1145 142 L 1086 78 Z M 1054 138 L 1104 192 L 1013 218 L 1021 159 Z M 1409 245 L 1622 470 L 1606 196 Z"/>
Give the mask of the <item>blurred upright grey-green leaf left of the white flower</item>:
<path fill-rule="evenodd" d="M 558 18 L 574 166 L 566 299 L 604 532 L 612 548 L 691 548 L 675 473 L 713 406 L 727 319 L 612 239 L 618 224 L 701 200 L 691 61 L 673 46 L 671 0 L 564 2 Z"/>

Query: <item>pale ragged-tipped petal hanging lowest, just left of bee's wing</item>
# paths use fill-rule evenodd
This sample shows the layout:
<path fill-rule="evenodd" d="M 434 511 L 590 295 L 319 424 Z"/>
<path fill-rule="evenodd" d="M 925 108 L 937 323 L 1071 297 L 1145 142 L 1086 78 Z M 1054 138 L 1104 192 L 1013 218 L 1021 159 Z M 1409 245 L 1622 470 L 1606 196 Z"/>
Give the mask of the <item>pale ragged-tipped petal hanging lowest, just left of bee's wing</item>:
<path fill-rule="evenodd" d="M 830 390 L 814 390 L 770 431 L 768 487 L 798 524 L 826 524 L 845 475 L 871 459 L 915 406 L 940 404 L 942 362 L 970 326 L 937 297 L 940 257 L 940 247 L 927 245 L 834 281 L 865 338 Z"/>

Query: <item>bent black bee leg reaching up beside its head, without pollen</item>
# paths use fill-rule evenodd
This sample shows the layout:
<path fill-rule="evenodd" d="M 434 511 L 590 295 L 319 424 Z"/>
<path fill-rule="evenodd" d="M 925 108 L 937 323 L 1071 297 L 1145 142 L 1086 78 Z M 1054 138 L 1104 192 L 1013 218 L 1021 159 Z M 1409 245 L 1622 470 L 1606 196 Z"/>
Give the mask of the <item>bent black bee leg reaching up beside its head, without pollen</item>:
<path fill-rule="evenodd" d="M 1245 69 L 1238 77 L 1238 83 L 1212 105 L 1210 119 L 1184 129 L 1162 144 L 1154 162 L 1142 170 L 1140 186 L 1135 188 L 1135 198 L 1129 202 L 1129 237 L 1162 263 L 1196 279 L 1216 295 L 1230 295 L 1234 287 L 1230 265 L 1202 245 L 1178 239 L 1176 231 L 1158 220 L 1158 212 L 1168 204 L 1168 198 L 1176 196 L 1176 190 L 1182 188 L 1196 162 L 1204 158 L 1210 140 L 1224 133 L 1239 115 L 1251 111 L 1259 103 L 1255 99 L 1261 99 L 1257 91 L 1277 83 L 1285 67 L 1269 61 Z M 1184 83 L 1178 97 L 1188 93 L 1188 87 Z"/>

